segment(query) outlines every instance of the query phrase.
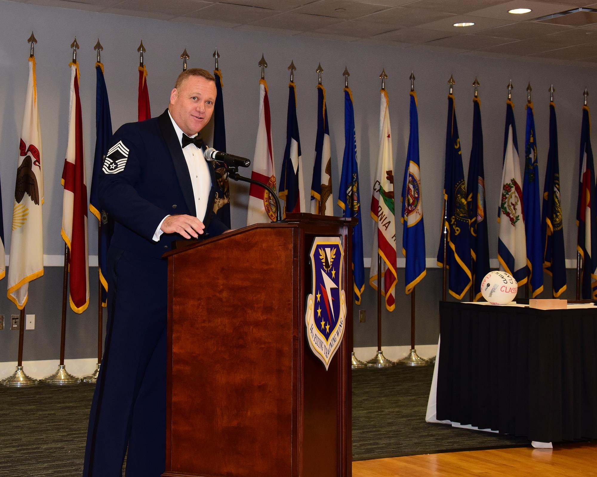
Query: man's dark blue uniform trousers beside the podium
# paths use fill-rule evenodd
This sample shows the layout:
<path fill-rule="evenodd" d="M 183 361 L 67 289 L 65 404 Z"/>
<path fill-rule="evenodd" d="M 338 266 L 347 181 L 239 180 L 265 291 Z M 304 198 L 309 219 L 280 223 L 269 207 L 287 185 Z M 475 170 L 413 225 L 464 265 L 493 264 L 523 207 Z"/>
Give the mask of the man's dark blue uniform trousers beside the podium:
<path fill-rule="evenodd" d="M 165 469 L 168 264 L 110 247 L 106 344 L 93 395 L 84 477 Z"/>

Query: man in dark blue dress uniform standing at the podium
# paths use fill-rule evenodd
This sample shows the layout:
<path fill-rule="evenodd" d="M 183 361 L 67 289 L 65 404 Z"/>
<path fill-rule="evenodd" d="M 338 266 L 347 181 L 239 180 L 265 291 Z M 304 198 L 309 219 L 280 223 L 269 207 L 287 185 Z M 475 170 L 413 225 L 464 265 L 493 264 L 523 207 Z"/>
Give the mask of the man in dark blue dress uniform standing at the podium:
<path fill-rule="evenodd" d="M 85 477 L 159 477 L 165 469 L 167 261 L 175 240 L 227 230 L 199 131 L 216 101 L 211 73 L 181 73 L 161 116 L 122 126 L 104 158 L 100 203 L 115 218 L 106 346 L 93 396 Z M 202 272 L 198 270 L 198 273 Z"/>

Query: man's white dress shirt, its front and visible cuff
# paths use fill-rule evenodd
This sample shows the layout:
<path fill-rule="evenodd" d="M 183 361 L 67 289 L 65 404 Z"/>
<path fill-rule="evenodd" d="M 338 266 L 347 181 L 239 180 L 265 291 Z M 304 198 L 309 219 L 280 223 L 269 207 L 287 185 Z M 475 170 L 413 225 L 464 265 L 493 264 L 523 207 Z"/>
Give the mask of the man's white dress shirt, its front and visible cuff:
<path fill-rule="evenodd" d="M 170 111 L 168 111 L 168 116 L 170 116 L 176 136 L 179 138 L 180 147 L 182 147 L 184 133 L 173 119 Z M 196 134 L 191 137 L 194 138 L 195 136 Z M 190 181 L 193 185 L 193 197 L 195 197 L 197 218 L 203 222 L 207 213 L 207 202 L 208 198 L 210 197 L 211 190 L 210 169 L 205 161 L 205 158 L 203 157 L 203 151 L 195 144 L 187 144 L 183 148 L 183 154 L 184 159 L 186 159 L 187 168 L 189 168 Z M 161 237 L 164 233 L 162 230 L 160 230 L 160 227 L 162 227 L 165 219 L 169 216 L 170 215 L 165 216 L 162 221 L 159 222 L 158 228 L 156 228 L 155 234 L 153 234 L 153 241 L 159 241 L 159 237 Z"/>

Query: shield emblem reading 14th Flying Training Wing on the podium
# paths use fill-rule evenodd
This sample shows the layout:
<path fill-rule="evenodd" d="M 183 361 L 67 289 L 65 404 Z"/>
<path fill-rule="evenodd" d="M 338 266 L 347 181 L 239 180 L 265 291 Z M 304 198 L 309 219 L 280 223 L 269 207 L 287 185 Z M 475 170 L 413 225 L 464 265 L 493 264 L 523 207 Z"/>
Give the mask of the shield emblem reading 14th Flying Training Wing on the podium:
<path fill-rule="evenodd" d="M 327 370 L 346 327 L 346 295 L 342 289 L 344 250 L 339 237 L 316 237 L 311 253 L 311 294 L 305 323 L 313 354 Z"/>

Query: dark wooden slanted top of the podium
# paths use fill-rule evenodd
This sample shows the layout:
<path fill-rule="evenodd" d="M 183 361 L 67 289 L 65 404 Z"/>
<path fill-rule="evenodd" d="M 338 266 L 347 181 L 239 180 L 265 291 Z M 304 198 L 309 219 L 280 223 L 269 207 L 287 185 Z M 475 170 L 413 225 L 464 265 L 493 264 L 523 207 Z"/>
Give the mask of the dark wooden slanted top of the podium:
<path fill-rule="evenodd" d="M 190 243 L 189 245 L 169 250 L 168 252 L 165 252 L 164 255 L 162 255 L 162 258 L 168 258 L 170 256 L 177 255 L 177 253 L 181 253 L 183 251 L 186 252 L 187 250 L 195 249 L 196 247 L 202 246 L 207 243 L 213 243 L 218 240 L 226 240 L 228 237 L 244 234 L 248 231 L 256 230 L 259 228 L 287 228 L 301 227 L 304 225 L 321 225 L 328 227 L 354 227 L 357 223 L 358 220 L 355 217 L 337 217 L 303 212 L 287 213 L 286 218 L 282 222 L 263 222 L 259 224 L 248 225 L 247 227 L 230 230 L 229 232 L 220 234 L 216 237 L 211 237 L 210 239 L 198 240 L 196 241 L 196 243 Z M 189 240 L 189 242 L 193 242 L 193 240 Z"/>

